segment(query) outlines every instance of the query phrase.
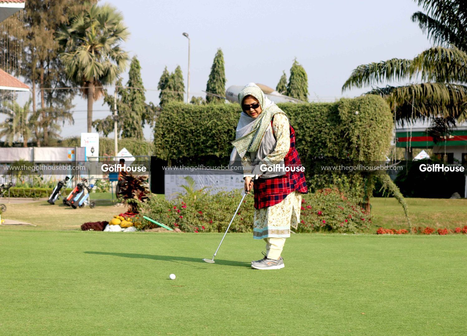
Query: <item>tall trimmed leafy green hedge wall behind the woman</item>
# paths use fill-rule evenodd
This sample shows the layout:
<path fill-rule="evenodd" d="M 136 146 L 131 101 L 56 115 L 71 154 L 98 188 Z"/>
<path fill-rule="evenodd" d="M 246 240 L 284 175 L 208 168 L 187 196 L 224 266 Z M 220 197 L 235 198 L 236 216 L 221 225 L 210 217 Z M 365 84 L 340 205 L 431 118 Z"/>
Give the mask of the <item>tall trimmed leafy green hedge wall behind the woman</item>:
<path fill-rule="evenodd" d="M 384 160 L 392 137 L 388 104 L 375 95 L 342 98 L 334 103 L 279 103 L 296 132 L 298 154 L 312 189 L 337 185 L 361 196 L 364 179 L 357 174 L 326 172 L 319 162 Z M 241 108 L 237 103 L 191 105 L 170 103 L 157 120 L 154 153 L 172 165 L 228 163 Z M 358 113 L 356 113 L 358 112 Z"/>

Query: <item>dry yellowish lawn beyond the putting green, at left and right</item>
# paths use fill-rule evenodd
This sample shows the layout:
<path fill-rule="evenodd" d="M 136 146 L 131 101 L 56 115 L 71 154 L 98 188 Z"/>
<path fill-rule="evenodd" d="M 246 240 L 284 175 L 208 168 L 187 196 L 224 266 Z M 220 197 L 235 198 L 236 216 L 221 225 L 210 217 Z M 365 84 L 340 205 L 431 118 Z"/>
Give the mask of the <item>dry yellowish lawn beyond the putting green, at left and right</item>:
<path fill-rule="evenodd" d="M 94 197 L 94 195 L 91 195 Z M 158 195 L 164 197 L 164 195 Z M 95 199 L 95 198 L 94 198 Z M 467 199 L 405 199 L 409 206 L 412 226 L 455 228 L 467 225 Z M 375 197 L 371 201 L 372 224 L 365 233 L 375 233 L 377 228 L 408 229 L 402 206 L 394 198 Z M 78 229 L 81 224 L 96 220 L 110 220 L 113 215 L 126 211 L 126 207 L 115 207 L 110 201 L 97 200 L 94 209 L 71 209 L 57 203 L 45 201 L 28 204 L 7 205 L 2 216 L 8 219 L 26 221 L 37 225 L 39 230 Z M 9 227 L 9 226 L 8 226 Z M 0 226 L 5 229 L 6 226 Z M 24 229 L 24 227 L 14 227 Z M 30 228 L 28 228 L 30 229 Z"/>

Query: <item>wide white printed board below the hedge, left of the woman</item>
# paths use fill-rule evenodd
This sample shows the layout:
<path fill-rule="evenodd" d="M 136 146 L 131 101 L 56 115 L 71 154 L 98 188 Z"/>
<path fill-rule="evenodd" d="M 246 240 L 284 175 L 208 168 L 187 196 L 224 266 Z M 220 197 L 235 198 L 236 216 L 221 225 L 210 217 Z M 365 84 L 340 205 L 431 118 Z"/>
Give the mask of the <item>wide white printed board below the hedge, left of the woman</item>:
<path fill-rule="evenodd" d="M 185 180 L 186 176 L 190 176 L 196 182 L 195 190 L 203 187 L 211 188 L 211 193 L 219 191 L 243 190 L 243 174 L 233 171 L 215 171 L 215 170 L 195 170 L 189 169 L 177 171 L 164 171 L 164 194 L 165 199 L 174 199 L 177 197 L 177 192 L 185 193 L 186 190 L 181 185 L 188 185 Z"/>

